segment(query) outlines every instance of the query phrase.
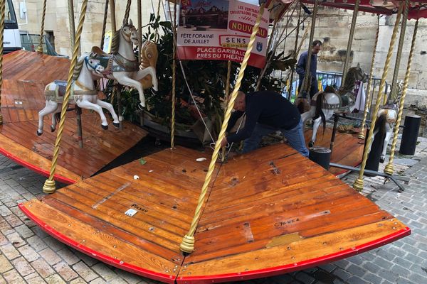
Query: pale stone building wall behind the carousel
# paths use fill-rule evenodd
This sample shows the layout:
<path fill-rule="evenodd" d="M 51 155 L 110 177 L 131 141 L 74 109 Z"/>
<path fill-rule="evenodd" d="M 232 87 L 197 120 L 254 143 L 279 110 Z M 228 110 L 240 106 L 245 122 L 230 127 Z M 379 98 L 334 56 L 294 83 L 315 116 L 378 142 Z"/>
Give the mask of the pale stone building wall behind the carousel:
<path fill-rule="evenodd" d="M 19 18 L 19 8 L 21 0 L 13 0 L 17 16 Z M 27 18 L 19 18 L 19 28 L 22 31 L 29 33 L 40 33 L 41 14 L 43 10 L 42 0 L 26 0 Z M 78 23 L 80 13 L 81 0 L 75 2 L 75 24 Z M 164 1 L 165 2 L 165 1 Z M 142 23 L 147 23 L 149 13 L 157 10 L 158 0 L 142 1 Z M 121 19 L 125 11 L 126 1 L 116 1 L 116 22 L 117 28 L 120 27 Z M 99 45 L 102 32 L 102 21 L 105 11 L 105 0 L 89 0 L 88 9 L 85 17 L 85 25 L 82 34 L 82 50 L 90 50 L 93 45 Z M 161 9 L 163 16 L 164 9 Z M 135 25 L 137 23 L 137 7 L 136 1 L 132 3 L 130 18 L 133 19 Z M 379 45 L 377 47 L 376 60 L 374 62 L 374 75 L 381 77 L 386 54 L 389 49 L 391 32 L 393 31 L 394 21 L 396 16 L 381 16 L 380 18 L 380 33 Z M 284 21 L 285 22 L 285 21 Z M 316 21 L 315 39 L 320 39 L 324 42 L 323 50 L 319 54 L 318 70 L 342 72 L 345 52 L 347 49 L 347 40 L 349 35 L 349 26 L 352 22 L 352 11 L 339 10 L 321 7 Z M 295 27 L 297 18 L 294 17 L 290 21 L 289 29 Z M 399 80 L 404 78 L 406 72 L 406 64 L 408 60 L 409 48 L 411 46 L 411 38 L 413 25 L 415 21 L 409 21 L 406 28 L 406 37 L 404 43 L 404 53 L 401 58 L 399 68 Z M 360 66 L 369 72 L 371 66 L 372 50 L 374 47 L 374 38 L 376 33 L 377 19 L 371 13 L 359 13 L 357 18 L 357 28 L 354 34 L 352 45 L 352 65 L 360 64 Z M 307 25 L 305 25 L 307 26 Z M 46 12 L 45 30 L 53 33 L 56 51 L 60 54 L 70 55 L 70 29 L 68 21 L 68 1 L 65 0 L 48 0 Z M 111 29 L 111 21 L 108 18 L 107 31 Z M 300 36 L 302 35 L 300 32 Z M 293 34 L 295 37 L 295 33 Z M 307 37 L 308 38 L 308 37 Z M 427 21 L 421 20 L 418 28 L 417 45 L 413 57 L 411 68 L 411 78 L 409 80 L 408 104 L 415 104 L 418 107 L 427 106 L 427 60 L 426 45 L 423 43 L 427 38 Z M 288 53 L 293 50 L 295 38 L 292 35 L 286 40 L 285 46 L 282 47 Z M 305 45 L 302 50 L 307 50 L 309 43 L 305 40 Z M 397 48 L 397 43 L 395 50 Z M 387 77 L 391 81 L 394 70 L 395 55 L 392 58 L 391 70 Z"/>

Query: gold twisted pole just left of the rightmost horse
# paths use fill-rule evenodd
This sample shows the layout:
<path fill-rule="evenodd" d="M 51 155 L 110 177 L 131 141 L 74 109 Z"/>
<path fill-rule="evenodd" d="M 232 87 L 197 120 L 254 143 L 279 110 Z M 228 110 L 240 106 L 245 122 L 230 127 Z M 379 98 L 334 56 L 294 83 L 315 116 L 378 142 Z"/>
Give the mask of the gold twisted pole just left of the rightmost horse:
<path fill-rule="evenodd" d="M 397 14 L 396 23 L 394 23 L 393 34 L 391 35 L 391 40 L 389 45 L 389 53 L 387 53 L 386 62 L 384 64 L 383 75 L 381 77 L 381 82 L 379 83 L 379 90 L 378 90 L 378 95 L 376 97 L 375 109 L 374 109 L 374 113 L 372 114 L 371 128 L 369 129 L 368 138 L 367 138 L 368 140 L 364 148 L 362 165 L 360 166 L 360 171 L 359 171 L 359 177 L 356 180 L 354 180 L 353 187 L 355 190 L 359 190 L 359 191 L 363 190 L 363 183 L 364 183 L 363 174 L 364 174 L 364 168 L 367 165 L 368 149 L 371 146 L 371 143 L 373 140 L 376 114 L 378 114 L 379 105 L 381 104 L 383 89 L 384 89 L 384 85 L 386 84 L 387 73 L 389 72 L 391 56 L 393 55 L 394 43 L 396 42 L 397 31 L 399 30 L 399 21 L 401 18 L 401 14 L 402 14 L 402 6 L 399 7 L 399 13 Z"/>

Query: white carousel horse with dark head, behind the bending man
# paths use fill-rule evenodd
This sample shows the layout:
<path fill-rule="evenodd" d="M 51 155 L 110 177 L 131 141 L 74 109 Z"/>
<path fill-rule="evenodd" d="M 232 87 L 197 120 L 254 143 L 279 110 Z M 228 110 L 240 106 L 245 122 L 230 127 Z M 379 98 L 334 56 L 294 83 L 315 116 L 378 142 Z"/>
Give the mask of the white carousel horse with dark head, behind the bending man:
<path fill-rule="evenodd" d="M 313 119 L 313 133 L 309 147 L 315 145 L 317 129 L 320 122 L 323 123 L 323 131 L 325 131 L 326 120 L 330 119 L 333 114 L 349 114 L 356 105 L 353 89 L 356 81 L 367 82 L 368 75 L 363 72 L 360 67 L 351 67 L 345 77 L 345 82 L 335 92 L 335 89 L 328 86 L 324 92 L 318 92 L 312 97 L 310 102 L 310 110 L 301 114 L 302 125 L 308 119 Z"/>

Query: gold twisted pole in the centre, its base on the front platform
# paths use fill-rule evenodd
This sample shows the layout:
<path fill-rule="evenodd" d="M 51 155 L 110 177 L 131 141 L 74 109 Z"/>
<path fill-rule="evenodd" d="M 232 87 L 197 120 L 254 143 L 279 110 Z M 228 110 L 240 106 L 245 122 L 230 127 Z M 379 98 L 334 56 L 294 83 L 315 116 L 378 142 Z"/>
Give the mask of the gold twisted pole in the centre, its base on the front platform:
<path fill-rule="evenodd" d="M 216 141 L 214 153 L 212 153 L 211 163 L 209 164 L 209 170 L 208 170 L 208 173 L 206 173 L 204 185 L 203 187 L 201 187 L 199 202 L 196 207 L 196 212 L 194 212 L 194 217 L 193 217 L 193 220 L 191 221 L 190 229 L 182 239 L 181 245 L 179 246 L 181 251 L 184 251 L 186 253 L 191 253 L 192 251 L 194 251 L 194 233 L 196 232 L 196 227 L 199 224 L 201 207 L 204 204 L 204 199 L 209 187 L 209 182 L 211 182 L 212 173 L 214 172 L 214 169 L 215 169 L 216 159 L 218 158 L 218 152 L 219 152 L 219 149 L 221 148 L 221 141 L 223 141 L 223 139 L 225 138 L 228 121 L 230 120 L 230 116 L 231 116 L 231 110 L 233 109 L 234 101 L 236 100 L 238 90 L 241 87 L 241 82 L 243 80 L 243 75 L 246 69 L 246 65 L 248 65 L 248 60 L 249 60 L 249 57 L 251 56 L 251 50 L 253 48 L 253 43 L 255 42 L 256 34 L 258 33 L 258 28 L 260 26 L 261 18 L 263 17 L 264 8 L 265 8 L 265 3 L 261 4 L 260 11 L 258 12 L 258 17 L 256 18 L 255 25 L 253 26 L 251 39 L 249 40 L 248 48 L 246 48 L 246 53 L 241 63 L 241 68 L 238 72 L 238 77 L 233 89 L 233 93 L 231 94 L 231 99 L 228 102 L 227 111 L 224 117 L 223 124 L 221 126 L 221 131 L 219 132 L 219 135 L 218 135 L 218 141 Z"/>

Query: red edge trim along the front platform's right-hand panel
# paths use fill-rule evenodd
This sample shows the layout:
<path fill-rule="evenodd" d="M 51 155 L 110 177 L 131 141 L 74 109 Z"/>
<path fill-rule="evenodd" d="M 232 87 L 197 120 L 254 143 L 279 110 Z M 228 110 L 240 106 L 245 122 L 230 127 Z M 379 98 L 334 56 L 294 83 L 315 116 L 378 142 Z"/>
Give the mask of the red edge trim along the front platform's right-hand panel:
<path fill-rule="evenodd" d="M 337 253 L 331 253 L 327 256 L 322 256 L 319 258 L 312 258 L 307 261 L 302 261 L 300 263 L 292 263 L 287 264 L 285 266 L 276 266 L 272 268 L 265 268 L 256 271 L 244 271 L 241 273 L 227 273 L 227 274 L 219 274 L 219 275 L 209 275 L 209 276 L 189 276 L 183 277 L 178 276 L 176 278 L 176 283 L 178 284 L 201 284 L 201 283 L 221 283 L 226 281 L 237 281 L 237 280 L 249 280 L 254 278 L 263 278 L 274 275 L 280 275 L 283 273 L 290 273 L 292 271 L 300 271 L 302 269 L 311 268 L 313 266 L 319 266 L 322 263 L 330 263 L 332 261 L 337 261 L 341 258 L 347 258 L 349 256 L 354 256 L 357 253 L 362 253 L 364 251 L 369 251 L 371 249 L 375 249 L 379 246 L 384 246 L 385 244 L 389 244 L 392 241 L 396 241 L 397 239 L 401 239 L 404 236 L 408 236 L 411 234 L 411 229 L 408 227 L 396 231 L 393 234 L 389 234 L 388 236 L 384 236 L 380 239 L 376 239 L 374 241 L 369 241 L 366 244 L 362 244 L 360 246 L 355 246 L 352 249 L 346 249 L 344 251 L 338 251 Z"/>

